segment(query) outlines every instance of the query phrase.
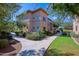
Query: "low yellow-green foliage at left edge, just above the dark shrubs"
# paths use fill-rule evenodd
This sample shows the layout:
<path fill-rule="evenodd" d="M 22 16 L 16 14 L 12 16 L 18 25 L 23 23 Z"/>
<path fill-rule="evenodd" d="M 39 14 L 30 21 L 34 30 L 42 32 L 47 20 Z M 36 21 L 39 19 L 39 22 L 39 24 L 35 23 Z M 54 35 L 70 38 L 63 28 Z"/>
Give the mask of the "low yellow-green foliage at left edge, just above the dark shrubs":
<path fill-rule="evenodd" d="M 15 22 L 0 21 L 0 32 L 19 32 L 19 28 Z"/>

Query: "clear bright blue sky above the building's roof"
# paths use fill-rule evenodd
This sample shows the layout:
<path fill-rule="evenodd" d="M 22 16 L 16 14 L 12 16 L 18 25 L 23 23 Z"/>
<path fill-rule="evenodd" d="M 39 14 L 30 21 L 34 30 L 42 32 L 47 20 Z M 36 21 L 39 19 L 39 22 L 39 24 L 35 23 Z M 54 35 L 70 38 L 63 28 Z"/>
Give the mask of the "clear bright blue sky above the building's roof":
<path fill-rule="evenodd" d="M 23 3 L 23 4 L 20 4 L 20 6 L 21 6 L 21 9 L 16 14 L 21 14 L 24 11 L 35 10 L 38 8 L 43 8 L 44 10 L 46 10 L 48 7 L 48 3 Z"/>

